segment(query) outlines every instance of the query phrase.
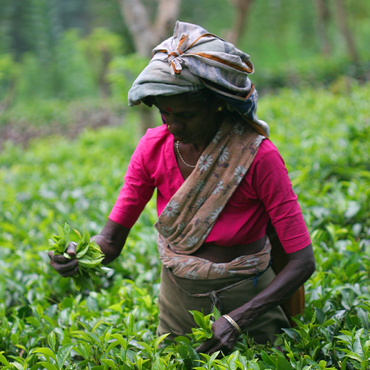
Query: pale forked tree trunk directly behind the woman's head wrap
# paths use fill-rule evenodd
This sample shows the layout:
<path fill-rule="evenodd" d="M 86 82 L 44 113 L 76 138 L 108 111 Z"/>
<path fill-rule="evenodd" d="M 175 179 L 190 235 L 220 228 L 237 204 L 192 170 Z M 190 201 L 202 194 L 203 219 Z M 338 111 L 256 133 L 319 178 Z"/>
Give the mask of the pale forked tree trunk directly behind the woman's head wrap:
<path fill-rule="evenodd" d="M 158 3 L 156 18 L 151 24 L 149 11 L 140 0 L 118 0 L 136 52 L 144 57 L 150 57 L 151 50 L 171 35 L 181 5 L 181 0 L 156 0 L 156 2 Z M 138 108 L 141 131 L 145 133 L 149 127 L 155 125 L 153 111 L 141 105 Z"/>

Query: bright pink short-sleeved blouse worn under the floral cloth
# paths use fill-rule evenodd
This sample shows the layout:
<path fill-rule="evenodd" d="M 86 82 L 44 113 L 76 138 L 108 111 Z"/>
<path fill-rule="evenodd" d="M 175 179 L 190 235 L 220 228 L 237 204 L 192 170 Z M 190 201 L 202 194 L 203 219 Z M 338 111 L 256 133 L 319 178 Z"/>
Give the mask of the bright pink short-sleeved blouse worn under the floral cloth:
<path fill-rule="evenodd" d="M 181 187 L 174 137 L 165 124 L 149 129 L 136 147 L 109 219 L 131 228 L 157 189 L 157 212 Z M 263 140 L 243 181 L 225 205 L 205 243 L 232 247 L 266 234 L 271 219 L 287 253 L 311 243 L 284 160 L 270 140 Z"/>

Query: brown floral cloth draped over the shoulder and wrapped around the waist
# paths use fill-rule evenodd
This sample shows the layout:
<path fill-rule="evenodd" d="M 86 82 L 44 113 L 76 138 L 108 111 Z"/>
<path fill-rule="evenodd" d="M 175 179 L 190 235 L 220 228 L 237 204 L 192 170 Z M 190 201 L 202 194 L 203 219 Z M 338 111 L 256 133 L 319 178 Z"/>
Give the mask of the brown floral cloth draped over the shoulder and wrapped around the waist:
<path fill-rule="evenodd" d="M 192 255 L 212 230 L 217 217 L 252 164 L 264 136 L 229 118 L 221 124 L 196 168 L 160 214 L 158 251 L 163 264 L 179 277 L 215 279 L 255 275 L 270 261 L 270 243 L 257 255 L 230 263 L 212 263 Z"/>

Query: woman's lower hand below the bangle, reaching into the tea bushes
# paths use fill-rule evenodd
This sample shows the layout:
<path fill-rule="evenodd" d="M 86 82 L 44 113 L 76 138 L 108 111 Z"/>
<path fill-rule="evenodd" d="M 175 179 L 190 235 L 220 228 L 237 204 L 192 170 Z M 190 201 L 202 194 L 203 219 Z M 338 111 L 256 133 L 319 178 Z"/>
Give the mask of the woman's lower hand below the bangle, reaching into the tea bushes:
<path fill-rule="evenodd" d="M 220 317 L 212 324 L 212 338 L 196 348 L 198 353 L 230 352 L 237 343 L 239 333 L 230 325 L 225 317 Z"/>

